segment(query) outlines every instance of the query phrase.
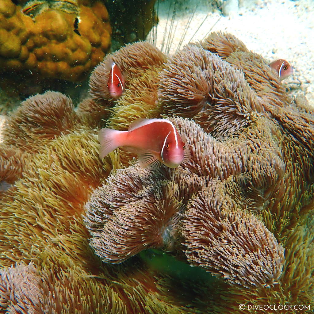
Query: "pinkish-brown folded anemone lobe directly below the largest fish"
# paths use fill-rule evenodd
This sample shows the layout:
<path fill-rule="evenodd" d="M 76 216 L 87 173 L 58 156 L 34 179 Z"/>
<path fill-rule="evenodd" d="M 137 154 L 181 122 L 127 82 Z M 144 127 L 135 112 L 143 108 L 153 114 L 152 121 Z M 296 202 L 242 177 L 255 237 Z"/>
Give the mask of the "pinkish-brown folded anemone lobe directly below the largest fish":
<path fill-rule="evenodd" d="M 138 165 L 120 169 L 86 204 L 90 246 L 105 262 L 121 263 L 149 247 L 172 248 L 183 204 L 177 184 L 158 177 Z"/>

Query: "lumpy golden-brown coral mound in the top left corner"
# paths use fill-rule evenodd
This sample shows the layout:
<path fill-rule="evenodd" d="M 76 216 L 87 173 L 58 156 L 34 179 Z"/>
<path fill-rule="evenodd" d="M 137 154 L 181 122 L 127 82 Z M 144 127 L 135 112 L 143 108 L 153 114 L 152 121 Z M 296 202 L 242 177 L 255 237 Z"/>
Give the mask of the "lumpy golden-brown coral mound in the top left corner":
<path fill-rule="evenodd" d="M 31 1 L 22 8 L 0 0 L 0 71 L 30 70 L 77 81 L 94 68 L 110 47 L 108 12 L 98 2 L 90 7 L 73 3 L 77 13 L 62 2 L 43 6 Z M 38 6 L 41 11 L 33 12 Z"/>

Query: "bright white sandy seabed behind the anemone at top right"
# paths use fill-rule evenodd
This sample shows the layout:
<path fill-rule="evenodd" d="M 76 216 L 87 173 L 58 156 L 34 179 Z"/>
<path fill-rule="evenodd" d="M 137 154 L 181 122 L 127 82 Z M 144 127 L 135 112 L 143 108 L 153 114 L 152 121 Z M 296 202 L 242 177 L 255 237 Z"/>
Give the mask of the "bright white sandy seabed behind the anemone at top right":
<path fill-rule="evenodd" d="M 172 6 L 169 11 L 170 3 Z M 261 54 L 269 62 L 277 59 L 287 60 L 293 66 L 294 74 L 284 80 L 285 84 L 291 88 L 300 87 L 314 106 L 313 0 L 244 0 L 242 7 L 229 16 L 222 16 L 217 10 L 211 12 L 209 1 L 189 0 L 176 5 L 171 29 L 173 3 L 173 0 L 159 2 L 160 22 L 157 27 L 156 46 L 162 47 L 162 51 L 170 54 L 176 52 L 185 31 L 187 32 L 181 47 L 191 39 L 192 42 L 203 40 L 209 31 L 229 32 L 243 41 L 249 50 Z M 197 8 L 196 3 L 199 3 Z M 170 14 L 167 23 L 168 12 Z M 205 22 L 193 37 L 204 19 Z M 168 41 L 170 29 L 172 31 Z"/>

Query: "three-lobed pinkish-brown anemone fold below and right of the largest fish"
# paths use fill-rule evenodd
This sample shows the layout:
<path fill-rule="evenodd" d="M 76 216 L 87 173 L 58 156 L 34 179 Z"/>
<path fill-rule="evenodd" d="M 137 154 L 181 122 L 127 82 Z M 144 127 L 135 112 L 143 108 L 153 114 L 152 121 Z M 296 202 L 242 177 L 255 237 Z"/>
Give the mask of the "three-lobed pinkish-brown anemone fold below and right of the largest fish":
<path fill-rule="evenodd" d="M 172 122 L 187 140 L 190 160 L 175 171 L 136 164 L 111 175 L 86 205 L 90 245 L 105 262 L 121 263 L 148 247 L 173 249 L 180 232 L 190 263 L 233 284 L 273 284 L 281 274 L 282 246 L 244 212 L 243 200 L 248 186 L 270 191 L 284 174 L 278 143 L 267 134 L 272 125 L 264 121 L 249 133 L 266 133 L 259 140 L 268 150 L 252 150 L 254 137 L 252 144 L 247 136 L 221 143 L 193 121 Z"/>

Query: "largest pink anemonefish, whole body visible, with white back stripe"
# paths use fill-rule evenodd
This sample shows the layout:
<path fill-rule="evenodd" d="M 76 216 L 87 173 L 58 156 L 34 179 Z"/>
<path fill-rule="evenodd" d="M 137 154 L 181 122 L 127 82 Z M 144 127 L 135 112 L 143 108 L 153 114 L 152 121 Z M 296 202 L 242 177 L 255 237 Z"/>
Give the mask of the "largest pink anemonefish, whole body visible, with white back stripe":
<path fill-rule="evenodd" d="M 98 139 L 100 159 L 120 146 L 138 154 L 142 167 L 158 168 L 164 164 L 176 168 L 185 159 L 185 143 L 173 123 L 166 119 L 137 119 L 128 131 L 104 128 Z"/>

